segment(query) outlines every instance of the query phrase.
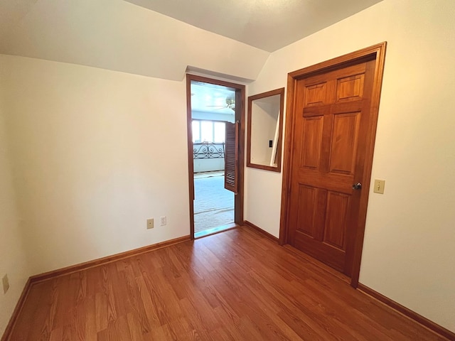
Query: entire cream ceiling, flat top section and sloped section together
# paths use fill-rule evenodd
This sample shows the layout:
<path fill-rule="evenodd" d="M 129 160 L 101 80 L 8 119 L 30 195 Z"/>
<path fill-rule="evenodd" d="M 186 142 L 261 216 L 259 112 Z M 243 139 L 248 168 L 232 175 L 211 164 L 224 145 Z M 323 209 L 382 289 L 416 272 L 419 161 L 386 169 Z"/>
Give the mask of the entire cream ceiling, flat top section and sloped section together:
<path fill-rule="evenodd" d="M 270 51 L 381 0 L 0 0 L 0 53 L 182 80 L 255 80 Z"/>

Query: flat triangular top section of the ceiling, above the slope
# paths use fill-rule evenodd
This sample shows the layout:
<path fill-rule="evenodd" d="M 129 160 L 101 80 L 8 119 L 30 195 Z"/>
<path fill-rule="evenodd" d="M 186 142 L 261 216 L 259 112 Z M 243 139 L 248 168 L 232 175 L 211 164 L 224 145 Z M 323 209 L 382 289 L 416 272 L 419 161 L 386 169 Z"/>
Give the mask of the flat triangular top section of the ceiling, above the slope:
<path fill-rule="evenodd" d="M 272 52 L 382 0 L 125 0 Z"/>

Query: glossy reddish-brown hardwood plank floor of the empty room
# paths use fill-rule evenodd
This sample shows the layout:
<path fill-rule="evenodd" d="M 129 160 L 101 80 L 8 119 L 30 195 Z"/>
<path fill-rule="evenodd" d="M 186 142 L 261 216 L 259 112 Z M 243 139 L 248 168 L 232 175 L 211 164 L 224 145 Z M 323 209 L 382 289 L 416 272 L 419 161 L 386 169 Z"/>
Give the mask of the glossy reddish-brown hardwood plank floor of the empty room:
<path fill-rule="evenodd" d="M 10 340 L 445 340 L 247 227 L 32 286 Z"/>

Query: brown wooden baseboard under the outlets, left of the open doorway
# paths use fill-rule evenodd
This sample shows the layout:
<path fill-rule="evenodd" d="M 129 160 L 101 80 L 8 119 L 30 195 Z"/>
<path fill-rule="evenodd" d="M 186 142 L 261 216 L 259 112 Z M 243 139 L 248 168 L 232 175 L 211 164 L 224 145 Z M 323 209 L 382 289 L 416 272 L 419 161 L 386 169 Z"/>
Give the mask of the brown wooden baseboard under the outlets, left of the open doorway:
<path fill-rule="evenodd" d="M 77 271 L 82 271 L 90 268 L 94 268 L 95 266 L 104 265 L 107 263 L 112 263 L 112 261 L 118 261 L 119 259 L 125 259 L 132 256 L 137 256 L 138 254 L 145 254 L 146 252 L 154 251 L 157 249 L 163 249 L 164 247 L 169 247 L 174 244 L 180 244 L 183 242 L 188 242 L 191 240 L 191 236 L 183 236 L 178 237 L 175 239 L 166 240 L 166 242 L 152 244 L 146 247 L 140 247 L 139 249 L 133 249 L 125 252 L 121 252 L 119 254 L 113 254 L 112 256 L 107 256 L 99 259 L 94 259 L 92 261 L 86 261 L 85 263 L 75 264 L 72 266 L 67 266 L 62 269 L 57 269 L 53 271 L 45 272 L 44 274 L 39 274 L 30 277 L 30 281 L 32 284 L 47 281 L 48 279 L 72 274 Z"/>

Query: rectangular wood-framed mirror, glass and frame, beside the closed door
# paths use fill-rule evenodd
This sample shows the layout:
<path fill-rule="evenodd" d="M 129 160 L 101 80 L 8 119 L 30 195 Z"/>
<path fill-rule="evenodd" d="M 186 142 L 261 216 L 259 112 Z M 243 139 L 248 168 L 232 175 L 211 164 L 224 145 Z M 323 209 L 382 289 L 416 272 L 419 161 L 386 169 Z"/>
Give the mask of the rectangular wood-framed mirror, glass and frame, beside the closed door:
<path fill-rule="evenodd" d="M 284 87 L 248 97 L 247 167 L 281 172 Z"/>

